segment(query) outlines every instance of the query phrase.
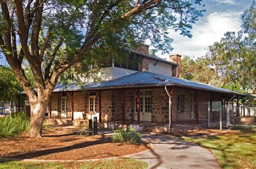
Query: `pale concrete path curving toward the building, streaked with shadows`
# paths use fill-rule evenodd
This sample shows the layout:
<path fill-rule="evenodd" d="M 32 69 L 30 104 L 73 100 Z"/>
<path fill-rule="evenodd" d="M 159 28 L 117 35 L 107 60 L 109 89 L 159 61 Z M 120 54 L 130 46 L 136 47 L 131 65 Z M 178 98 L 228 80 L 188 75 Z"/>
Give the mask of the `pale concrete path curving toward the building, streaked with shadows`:
<path fill-rule="evenodd" d="M 199 145 L 147 134 L 143 139 L 156 149 L 131 158 L 145 161 L 148 168 L 220 168 L 213 154 Z"/>

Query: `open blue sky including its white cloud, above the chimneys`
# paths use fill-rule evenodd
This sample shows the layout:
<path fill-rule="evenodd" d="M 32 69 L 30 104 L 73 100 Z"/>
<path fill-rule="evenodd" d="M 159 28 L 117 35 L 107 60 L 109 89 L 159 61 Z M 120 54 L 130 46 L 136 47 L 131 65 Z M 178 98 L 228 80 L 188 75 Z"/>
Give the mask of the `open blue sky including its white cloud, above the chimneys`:
<path fill-rule="evenodd" d="M 227 31 L 239 31 L 241 28 L 240 15 L 249 8 L 252 0 L 205 0 L 201 7 L 205 9 L 204 16 L 193 25 L 192 38 L 183 37 L 179 32 L 170 31 L 173 38 L 172 54 L 194 55 L 201 57 L 206 53 L 208 45 L 219 41 Z M 169 59 L 169 55 L 161 55 Z M 5 65 L 5 58 L 0 59 L 0 65 Z"/>

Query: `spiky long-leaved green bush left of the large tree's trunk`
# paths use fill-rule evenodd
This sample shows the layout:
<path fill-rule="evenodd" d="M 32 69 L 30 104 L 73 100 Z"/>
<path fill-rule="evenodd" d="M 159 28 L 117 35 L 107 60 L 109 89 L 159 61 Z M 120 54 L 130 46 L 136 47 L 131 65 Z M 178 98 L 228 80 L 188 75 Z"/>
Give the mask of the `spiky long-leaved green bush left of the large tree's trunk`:
<path fill-rule="evenodd" d="M 13 137 L 28 132 L 30 119 L 24 112 L 15 112 L 0 118 L 0 138 Z"/>

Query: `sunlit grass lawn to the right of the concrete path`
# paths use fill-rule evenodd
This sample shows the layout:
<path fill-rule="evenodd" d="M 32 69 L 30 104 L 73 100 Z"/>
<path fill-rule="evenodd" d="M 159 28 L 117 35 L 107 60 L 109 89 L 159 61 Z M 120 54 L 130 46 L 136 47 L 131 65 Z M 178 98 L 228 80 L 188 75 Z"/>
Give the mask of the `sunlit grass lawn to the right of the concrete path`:
<path fill-rule="evenodd" d="M 238 129 L 219 136 L 184 137 L 210 149 L 223 168 L 256 168 L 256 129 Z"/>

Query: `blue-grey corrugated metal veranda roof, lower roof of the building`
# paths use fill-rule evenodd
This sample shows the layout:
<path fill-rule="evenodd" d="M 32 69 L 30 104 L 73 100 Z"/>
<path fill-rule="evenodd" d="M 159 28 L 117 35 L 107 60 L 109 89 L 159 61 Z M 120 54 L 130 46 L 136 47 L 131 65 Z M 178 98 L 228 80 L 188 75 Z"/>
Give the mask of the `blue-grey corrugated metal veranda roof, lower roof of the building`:
<path fill-rule="evenodd" d="M 238 91 L 219 88 L 203 83 L 198 83 L 186 79 L 174 78 L 172 76 L 151 73 L 137 72 L 122 78 L 113 79 L 102 82 L 86 83 L 84 86 L 79 86 L 75 83 L 70 85 L 57 84 L 53 92 L 58 91 L 80 91 L 80 90 L 99 90 L 99 89 L 117 89 L 117 88 L 138 88 L 138 87 L 156 87 L 156 86 L 181 86 L 193 89 L 206 91 L 214 91 L 231 95 L 247 96 L 247 94 Z M 21 94 L 25 94 L 24 91 Z"/>

